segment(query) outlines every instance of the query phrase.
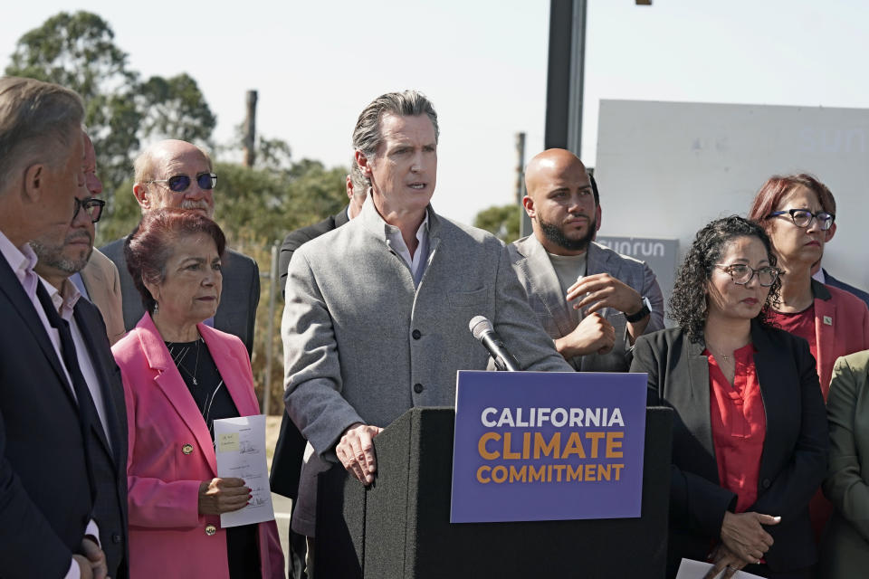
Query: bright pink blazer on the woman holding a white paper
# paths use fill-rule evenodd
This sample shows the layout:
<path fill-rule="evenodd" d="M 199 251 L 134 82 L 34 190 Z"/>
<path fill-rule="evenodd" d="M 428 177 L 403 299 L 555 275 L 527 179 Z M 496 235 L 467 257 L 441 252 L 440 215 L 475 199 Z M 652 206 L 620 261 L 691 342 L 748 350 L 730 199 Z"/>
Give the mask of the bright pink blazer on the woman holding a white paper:
<path fill-rule="evenodd" d="M 259 413 L 242 341 L 197 327 L 238 412 Z M 220 517 L 198 512 L 199 483 L 217 476 L 214 443 L 150 316 L 111 350 L 124 381 L 129 425 L 130 576 L 229 579 Z M 259 525 L 259 547 L 263 578 L 283 577 L 274 521 Z"/>

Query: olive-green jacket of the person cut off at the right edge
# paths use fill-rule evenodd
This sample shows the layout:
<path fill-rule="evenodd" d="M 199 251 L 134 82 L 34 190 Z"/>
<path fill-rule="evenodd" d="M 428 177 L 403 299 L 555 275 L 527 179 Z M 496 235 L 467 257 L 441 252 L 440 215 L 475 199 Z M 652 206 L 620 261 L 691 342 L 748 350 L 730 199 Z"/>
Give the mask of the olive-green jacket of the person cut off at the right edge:
<path fill-rule="evenodd" d="M 826 417 L 824 494 L 836 510 L 821 542 L 820 576 L 863 577 L 869 567 L 869 350 L 836 360 Z"/>

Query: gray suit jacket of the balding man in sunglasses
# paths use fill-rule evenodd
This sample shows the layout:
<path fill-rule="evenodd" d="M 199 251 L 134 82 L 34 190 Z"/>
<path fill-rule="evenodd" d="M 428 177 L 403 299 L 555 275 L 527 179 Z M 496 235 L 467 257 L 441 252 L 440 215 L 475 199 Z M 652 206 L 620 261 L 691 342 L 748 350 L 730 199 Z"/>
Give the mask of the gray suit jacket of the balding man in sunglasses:
<path fill-rule="evenodd" d="M 123 301 L 124 327 L 136 327 L 145 314 L 142 297 L 133 283 L 124 257 L 126 237 L 100 247 L 106 257 L 115 263 L 120 276 L 120 297 Z M 244 253 L 226 248 L 223 261 L 223 290 L 215 314 L 215 327 L 241 338 L 248 355 L 253 353 L 253 324 L 256 321 L 256 306 L 260 303 L 260 269 Z"/>

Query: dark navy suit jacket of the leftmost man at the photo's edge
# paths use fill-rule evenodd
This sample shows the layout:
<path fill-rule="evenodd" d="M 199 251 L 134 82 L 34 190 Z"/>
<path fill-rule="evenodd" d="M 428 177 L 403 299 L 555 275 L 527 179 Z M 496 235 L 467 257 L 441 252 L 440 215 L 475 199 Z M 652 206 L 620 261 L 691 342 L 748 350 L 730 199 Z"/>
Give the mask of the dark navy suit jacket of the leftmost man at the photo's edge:
<path fill-rule="evenodd" d="M 2 257 L 0 319 L 0 574 L 62 577 L 93 513 L 91 474 L 61 361 Z"/>

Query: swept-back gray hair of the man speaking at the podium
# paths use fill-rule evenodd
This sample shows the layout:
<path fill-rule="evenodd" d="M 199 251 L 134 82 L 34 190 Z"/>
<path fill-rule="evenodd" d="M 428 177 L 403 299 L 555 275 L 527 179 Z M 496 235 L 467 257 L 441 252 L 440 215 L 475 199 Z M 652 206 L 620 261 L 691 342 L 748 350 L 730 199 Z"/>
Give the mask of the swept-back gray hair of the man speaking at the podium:
<path fill-rule="evenodd" d="M 386 113 L 392 113 L 399 117 L 428 115 L 428 119 L 435 126 L 435 143 L 437 143 L 441 132 L 437 128 L 437 113 L 431 100 L 428 100 L 422 92 L 417 90 L 405 90 L 382 94 L 362 110 L 356 121 L 356 128 L 353 129 L 354 149 L 368 158 L 375 157 L 377 147 L 383 141 L 383 135 L 380 133 L 380 119 Z"/>

